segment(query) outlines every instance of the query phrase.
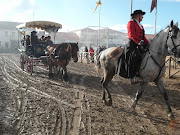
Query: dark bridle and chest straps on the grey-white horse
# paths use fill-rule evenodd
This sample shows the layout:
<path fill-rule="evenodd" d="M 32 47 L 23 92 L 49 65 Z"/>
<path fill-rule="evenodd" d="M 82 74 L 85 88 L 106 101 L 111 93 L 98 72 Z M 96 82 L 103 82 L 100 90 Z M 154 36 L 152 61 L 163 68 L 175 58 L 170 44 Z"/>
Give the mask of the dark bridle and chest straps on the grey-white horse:
<path fill-rule="evenodd" d="M 176 37 L 176 36 L 177 36 L 177 35 L 172 35 L 172 29 L 170 29 L 169 32 L 168 32 L 167 38 L 166 38 L 166 43 L 165 43 L 166 47 L 168 48 L 168 46 L 167 46 L 167 41 L 168 41 L 168 38 L 171 38 L 171 41 L 172 41 L 172 43 L 173 43 L 173 49 L 171 49 L 171 50 L 172 50 L 173 53 L 176 53 L 176 52 L 177 52 L 177 47 L 180 46 L 180 44 L 179 44 L 179 45 L 175 45 L 175 43 L 174 43 L 173 37 Z M 156 65 L 158 65 L 159 68 L 160 68 L 159 73 L 158 73 L 156 79 L 154 80 L 154 81 L 157 81 L 157 79 L 159 78 L 159 76 L 160 76 L 160 74 L 161 74 L 162 69 L 163 69 L 164 66 L 165 66 L 165 62 L 164 62 L 164 64 L 161 66 L 161 65 L 155 60 L 155 58 L 151 55 L 150 50 L 148 49 L 147 51 L 148 51 L 148 53 L 149 53 L 148 58 L 149 58 L 149 56 L 150 56 L 150 57 L 152 58 L 152 60 L 156 63 Z M 159 53 L 157 53 L 157 54 L 159 54 Z M 162 55 L 162 54 L 160 54 L 160 55 Z M 146 64 L 147 64 L 148 58 L 147 58 L 147 60 L 146 60 Z M 142 68 L 142 70 L 146 67 L 146 64 L 145 64 L 145 66 Z"/>

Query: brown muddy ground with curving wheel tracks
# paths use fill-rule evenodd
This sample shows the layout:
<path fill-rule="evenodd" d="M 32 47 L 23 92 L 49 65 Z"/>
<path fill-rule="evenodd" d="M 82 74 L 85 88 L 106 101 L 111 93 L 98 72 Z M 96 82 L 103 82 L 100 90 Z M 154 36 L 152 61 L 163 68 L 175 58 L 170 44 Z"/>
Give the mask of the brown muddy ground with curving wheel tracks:
<path fill-rule="evenodd" d="M 175 121 L 168 121 L 163 97 L 153 83 L 136 107 L 130 106 L 138 85 L 115 76 L 109 84 L 112 106 L 101 100 L 94 64 L 68 65 L 69 81 L 49 79 L 35 67 L 31 75 L 20 68 L 20 54 L 0 55 L 1 135 L 168 135 L 180 134 L 180 78 L 165 78 Z"/>

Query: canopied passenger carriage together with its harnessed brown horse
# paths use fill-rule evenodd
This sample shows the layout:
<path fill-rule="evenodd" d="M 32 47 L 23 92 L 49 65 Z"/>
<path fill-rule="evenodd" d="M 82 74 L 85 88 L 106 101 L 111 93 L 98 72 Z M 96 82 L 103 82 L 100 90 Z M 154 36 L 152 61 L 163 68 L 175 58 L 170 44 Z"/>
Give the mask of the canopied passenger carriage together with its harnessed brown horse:
<path fill-rule="evenodd" d="M 34 66 L 48 66 L 47 68 L 49 69 L 50 77 L 52 76 L 52 69 L 54 68 L 62 67 L 63 69 L 65 69 L 64 71 L 66 73 L 66 66 L 69 63 L 70 58 L 74 58 L 77 55 L 73 53 L 73 46 L 75 43 L 49 45 L 47 44 L 47 41 L 40 41 L 38 38 L 36 38 L 35 31 L 35 29 L 41 29 L 48 33 L 53 32 L 55 33 L 54 35 L 56 35 L 57 31 L 62 28 L 61 24 L 49 21 L 31 21 L 26 22 L 25 24 L 18 25 L 16 28 L 19 33 L 24 35 L 24 38 L 22 39 L 22 42 L 19 46 L 19 51 L 21 52 L 20 65 L 22 70 L 24 70 L 26 67 L 27 72 L 32 75 Z M 28 33 L 28 29 L 32 30 L 31 37 L 26 34 Z M 33 35 L 35 38 L 33 37 Z M 75 46 L 77 46 L 77 44 Z M 54 55 L 51 55 L 54 49 L 56 49 L 56 53 Z M 64 59 L 65 64 L 62 64 L 64 62 Z"/>

